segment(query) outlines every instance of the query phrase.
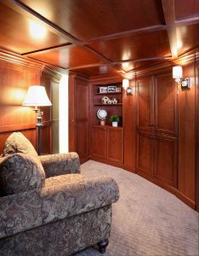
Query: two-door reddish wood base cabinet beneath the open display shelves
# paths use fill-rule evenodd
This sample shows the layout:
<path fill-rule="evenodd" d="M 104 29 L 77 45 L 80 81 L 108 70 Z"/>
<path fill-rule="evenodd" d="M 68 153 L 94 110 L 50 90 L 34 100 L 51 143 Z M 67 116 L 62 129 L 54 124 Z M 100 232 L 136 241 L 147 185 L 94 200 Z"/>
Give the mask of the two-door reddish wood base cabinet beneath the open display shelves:
<path fill-rule="evenodd" d="M 123 163 L 123 129 L 111 125 L 93 125 L 92 156 L 115 164 Z"/>

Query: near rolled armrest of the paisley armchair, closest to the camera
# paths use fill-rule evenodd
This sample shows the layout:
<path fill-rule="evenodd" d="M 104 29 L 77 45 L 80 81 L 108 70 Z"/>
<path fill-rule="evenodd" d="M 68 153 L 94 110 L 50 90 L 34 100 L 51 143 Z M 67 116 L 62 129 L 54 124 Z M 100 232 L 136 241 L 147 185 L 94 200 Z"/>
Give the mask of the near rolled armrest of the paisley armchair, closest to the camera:
<path fill-rule="evenodd" d="M 110 205 L 118 198 L 119 189 L 111 177 L 0 197 L 0 238 Z"/>

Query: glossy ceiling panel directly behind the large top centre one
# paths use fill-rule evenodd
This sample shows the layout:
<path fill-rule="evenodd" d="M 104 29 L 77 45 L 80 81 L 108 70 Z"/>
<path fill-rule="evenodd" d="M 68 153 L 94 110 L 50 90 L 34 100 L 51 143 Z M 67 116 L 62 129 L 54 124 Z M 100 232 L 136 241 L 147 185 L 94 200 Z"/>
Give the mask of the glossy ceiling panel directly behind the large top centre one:
<path fill-rule="evenodd" d="M 106 40 L 89 44 L 89 46 L 111 61 L 171 55 L 167 31 Z"/>

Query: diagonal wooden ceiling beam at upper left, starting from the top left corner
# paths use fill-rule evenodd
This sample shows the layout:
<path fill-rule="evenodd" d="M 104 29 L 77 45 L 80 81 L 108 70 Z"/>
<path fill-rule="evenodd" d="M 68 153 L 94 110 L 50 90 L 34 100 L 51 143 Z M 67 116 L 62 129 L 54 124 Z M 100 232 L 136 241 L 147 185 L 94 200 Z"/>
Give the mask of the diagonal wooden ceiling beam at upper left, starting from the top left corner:
<path fill-rule="evenodd" d="M 24 15 L 25 17 L 36 20 L 37 22 L 40 22 L 43 26 L 45 26 L 50 32 L 53 32 L 55 35 L 65 38 L 67 42 L 70 42 L 72 44 L 78 44 L 79 41 L 77 38 L 73 37 L 70 33 L 66 32 L 64 29 L 62 29 L 60 26 L 55 25 L 50 20 L 47 20 L 42 15 L 39 15 L 36 11 L 26 6 L 26 4 L 21 3 L 18 0 L 2 0 L 1 3 L 5 4 L 11 9 L 14 9 L 14 11 L 20 13 L 20 15 Z"/>

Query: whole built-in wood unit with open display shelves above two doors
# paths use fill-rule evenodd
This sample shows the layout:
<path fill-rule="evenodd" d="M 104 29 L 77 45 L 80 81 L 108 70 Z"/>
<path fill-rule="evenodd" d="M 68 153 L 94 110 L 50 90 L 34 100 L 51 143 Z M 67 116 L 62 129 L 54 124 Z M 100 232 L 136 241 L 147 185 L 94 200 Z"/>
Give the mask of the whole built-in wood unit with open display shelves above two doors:
<path fill-rule="evenodd" d="M 119 91 L 108 91 L 113 86 Z M 103 92 L 102 92 L 103 91 Z M 123 164 L 123 128 L 122 128 L 122 81 L 110 84 L 91 84 L 91 142 L 90 157 L 94 160 L 104 161 L 107 164 L 122 166 Z M 116 98 L 117 103 L 103 103 L 102 99 Z M 100 125 L 97 117 L 99 109 L 105 109 L 107 117 L 105 125 Z M 117 114 L 120 117 L 118 127 L 112 127 L 111 115 Z"/>

